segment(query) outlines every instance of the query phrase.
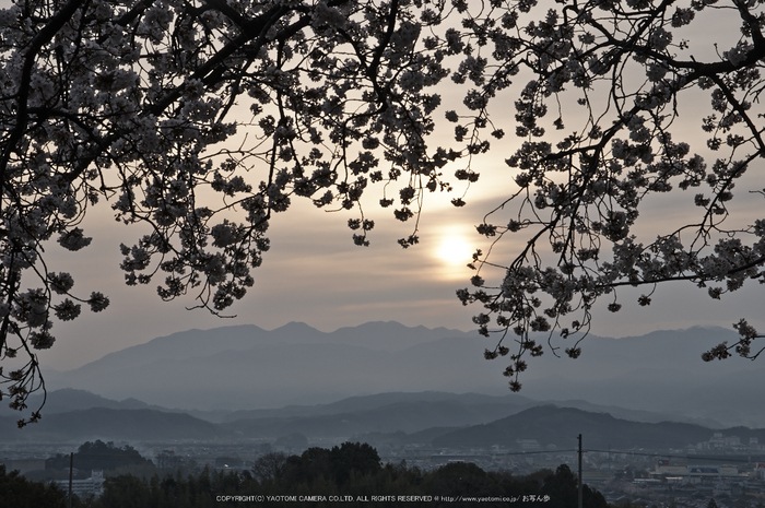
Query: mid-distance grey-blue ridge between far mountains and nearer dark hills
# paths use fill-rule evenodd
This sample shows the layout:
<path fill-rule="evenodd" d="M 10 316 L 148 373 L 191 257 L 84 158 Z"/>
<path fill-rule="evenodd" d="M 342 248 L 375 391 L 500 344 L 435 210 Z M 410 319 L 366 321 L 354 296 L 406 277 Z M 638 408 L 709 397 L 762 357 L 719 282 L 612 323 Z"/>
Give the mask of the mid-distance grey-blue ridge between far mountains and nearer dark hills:
<path fill-rule="evenodd" d="M 317 438 L 348 438 L 352 435 L 366 433 L 419 433 L 435 426 L 464 427 L 493 422 L 529 407 L 549 404 L 518 394 L 497 397 L 480 393 L 389 392 L 352 397 L 329 404 L 202 412 L 149 405 L 136 399 L 115 401 L 71 388 L 50 392 L 47 394 L 47 399 L 43 411 L 43 423 L 32 426 L 32 433 L 37 433 L 40 428 L 43 430 L 52 428 L 56 430 L 51 432 L 59 432 L 60 428 L 62 436 L 67 435 L 69 430 L 66 424 L 62 425 L 62 422 L 72 417 L 90 415 L 89 412 L 92 410 L 98 410 L 97 413 L 103 414 L 140 410 L 143 413 L 137 414 L 150 415 L 156 412 L 183 413 L 185 416 L 188 414 L 209 423 L 220 423 L 223 428 L 245 437 L 275 438 L 285 434 L 302 433 Z M 40 402 L 40 395 L 33 395 L 30 405 L 35 407 Z M 646 411 L 598 406 L 584 401 L 565 401 L 558 402 L 557 405 L 614 414 L 637 422 L 660 422 L 670 417 L 666 414 Z M 67 415 L 64 420 L 61 420 L 61 414 Z M 19 413 L 3 405 L 0 406 L 0 417 L 7 417 L 7 421 L 10 422 L 17 420 Z M 89 422 L 85 427 L 96 429 L 93 427 L 93 422 Z M 115 435 L 121 436 L 120 432 L 116 430 L 119 425 L 113 428 L 115 428 Z M 94 432 L 106 433 L 107 430 L 96 429 Z M 23 430 L 20 436 L 26 434 L 30 433 Z M 146 438 L 153 439 L 150 436 L 151 433 L 148 432 Z"/>

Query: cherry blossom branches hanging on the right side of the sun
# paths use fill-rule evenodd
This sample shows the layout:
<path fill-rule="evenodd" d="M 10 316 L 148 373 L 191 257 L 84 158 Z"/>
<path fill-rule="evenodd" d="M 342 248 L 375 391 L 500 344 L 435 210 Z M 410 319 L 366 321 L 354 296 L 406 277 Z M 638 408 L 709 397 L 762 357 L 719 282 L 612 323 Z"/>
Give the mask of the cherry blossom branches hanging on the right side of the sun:
<path fill-rule="evenodd" d="M 645 306 L 661 283 L 690 281 L 721 298 L 765 279 L 762 215 L 739 216 L 730 206 L 737 184 L 750 191 L 762 185 L 745 178 L 765 156 L 762 3 L 521 0 L 471 10 L 454 2 L 466 8 L 462 29 L 446 36 L 462 55 L 454 78 L 474 84 L 466 113 L 446 115 L 457 123 L 456 140 L 487 139 L 482 130 L 506 109 L 495 97 L 517 81 L 519 139 L 507 157 L 517 188 L 478 225 L 491 252 L 501 240 L 516 250 L 509 260 L 476 252 L 471 267 L 480 275 L 473 288 L 457 293 L 463 304 L 483 306 L 474 318 L 479 330 L 499 334 L 485 355 L 509 355 L 505 375 L 514 390 L 528 356 L 542 354 L 540 338 L 554 354 L 579 356 L 597 300 L 620 311 L 622 286 L 648 287 L 638 298 Z M 740 34 L 706 61 L 694 54 L 714 50 L 714 42 L 683 39 L 682 29 L 705 16 L 732 20 L 729 33 Z M 696 97 L 708 91 L 710 99 L 701 143 L 675 139 L 680 111 L 703 110 L 697 99 L 685 101 L 694 90 Z M 698 206 L 698 220 L 667 231 L 651 225 L 654 236 L 646 237 L 640 214 L 668 192 Z M 486 273 L 497 267 L 502 275 L 492 283 Z M 735 328 L 741 340 L 704 359 L 732 350 L 758 355 L 756 330 L 746 321 Z M 506 343 L 513 340 L 514 348 Z"/>

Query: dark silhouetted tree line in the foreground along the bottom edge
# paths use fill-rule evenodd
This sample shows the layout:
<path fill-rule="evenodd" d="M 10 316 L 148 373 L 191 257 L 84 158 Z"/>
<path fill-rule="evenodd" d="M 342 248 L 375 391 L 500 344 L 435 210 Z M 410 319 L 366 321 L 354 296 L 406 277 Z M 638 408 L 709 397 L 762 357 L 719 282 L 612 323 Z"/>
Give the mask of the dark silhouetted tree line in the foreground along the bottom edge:
<path fill-rule="evenodd" d="M 2 466 L 0 466 L 2 468 Z M 66 506 L 66 493 L 55 486 L 28 482 L 16 472 L 0 469 L 0 505 L 19 508 Z M 15 494 L 14 494 L 15 493 Z M 4 497 L 3 497 L 4 496 Z M 10 497 L 9 497 L 10 496 Z M 15 496 L 15 497 L 12 497 Z M 233 500 L 227 496 L 242 496 Z M 313 500 L 298 501 L 311 496 Z M 399 496 L 420 496 L 427 507 L 473 506 L 469 497 L 504 499 L 486 506 L 575 508 L 577 479 L 563 464 L 555 471 L 543 469 L 528 475 L 486 472 L 472 463 L 454 462 L 425 471 L 405 462 L 382 464 L 377 451 L 366 444 L 345 442 L 331 449 L 309 448 L 302 454 L 272 452 L 261 456 L 251 470 L 168 473 L 139 477 L 121 474 L 107 477 L 98 498 L 74 498 L 79 508 L 207 508 L 337 506 L 341 497 L 348 507 L 401 506 Z M 446 501 L 462 498 L 464 501 Z M 228 500 L 228 501 L 226 501 Z M 584 486 L 585 506 L 607 508 L 602 494 Z M 405 503 L 404 503 L 405 504 Z"/>

